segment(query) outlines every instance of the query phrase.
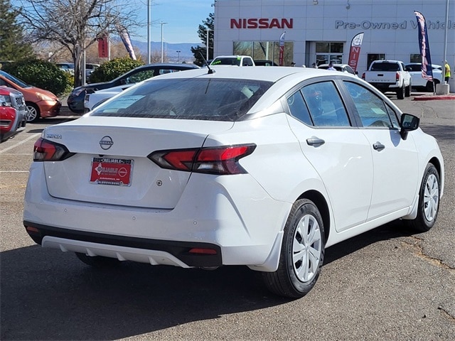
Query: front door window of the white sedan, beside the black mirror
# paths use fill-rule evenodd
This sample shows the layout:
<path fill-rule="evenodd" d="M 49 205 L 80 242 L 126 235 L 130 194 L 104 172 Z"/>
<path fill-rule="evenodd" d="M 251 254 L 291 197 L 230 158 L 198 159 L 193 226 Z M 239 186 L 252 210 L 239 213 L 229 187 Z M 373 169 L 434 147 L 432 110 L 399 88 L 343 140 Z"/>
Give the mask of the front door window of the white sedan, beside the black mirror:
<path fill-rule="evenodd" d="M 345 82 L 363 126 L 372 128 L 398 128 L 395 112 L 376 94 L 353 82 Z"/>

